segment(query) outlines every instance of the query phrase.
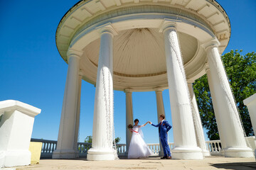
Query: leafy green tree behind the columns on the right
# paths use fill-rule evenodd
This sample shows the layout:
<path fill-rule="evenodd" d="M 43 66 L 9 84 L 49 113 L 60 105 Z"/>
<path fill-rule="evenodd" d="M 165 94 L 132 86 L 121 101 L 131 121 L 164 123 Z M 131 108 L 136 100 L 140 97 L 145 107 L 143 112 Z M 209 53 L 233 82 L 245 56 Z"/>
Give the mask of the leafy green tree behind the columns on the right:
<path fill-rule="evenodd" d="M 238 50 L 231 50 L 222 56 L 222 60 L 240 112 L 245 133 L 247 136 L 251 136 L 253 135 L 252 124 L 243 100 L 256 93 L 256 54 L 255 52 L 250 52 L 246 55 L 241 55 L 241 52 L 242 50 L 240 52 Z M 197 79 L 193 84 L 193 88 L 203 127 L 208 130 L 207 135 L 209 139 L 220 139 L 207 76 L 204 75 Z"/>

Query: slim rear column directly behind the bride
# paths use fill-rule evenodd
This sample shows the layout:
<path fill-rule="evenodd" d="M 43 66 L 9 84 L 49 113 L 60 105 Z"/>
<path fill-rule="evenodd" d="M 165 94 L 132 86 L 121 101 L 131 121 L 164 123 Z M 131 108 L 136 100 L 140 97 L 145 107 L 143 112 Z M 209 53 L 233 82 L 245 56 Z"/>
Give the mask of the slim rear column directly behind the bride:
<path fill-rule="evenodd" d="M 132 139 L 132 132 L 127 128 L 128 125 L 133 125 L 133 108 L 132 108 L 132 91 L 131 89 L 125 89 L 126 94 L 126 147 L 127 150 L 125 152 L 125 155 L 128 155 L 129 151 L 129 144 Z"/>

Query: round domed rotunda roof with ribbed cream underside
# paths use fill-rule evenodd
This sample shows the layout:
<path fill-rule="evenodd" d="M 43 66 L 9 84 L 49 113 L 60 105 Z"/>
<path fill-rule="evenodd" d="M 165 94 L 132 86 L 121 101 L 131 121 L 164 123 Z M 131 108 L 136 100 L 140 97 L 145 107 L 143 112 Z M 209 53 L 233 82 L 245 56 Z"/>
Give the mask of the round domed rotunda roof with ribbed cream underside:
<path fill-rule="evenodd" d="M 56 44 L 66 62 L 69 47 L 83 52 L 82 79 L 95 84 L 100 49 L 97 26 L 112 23 L 118 32 L 113 45 L 114 89 L 167 88 L 164 37 L 159 31 L 165 18 L 177 23 L 187 79 L 201 77 L 207 60 L 201 44 L 216 36 L 221 53 L 230 39 L 230 21 L 216 1 L 79 1 L 60 21 Z"/>

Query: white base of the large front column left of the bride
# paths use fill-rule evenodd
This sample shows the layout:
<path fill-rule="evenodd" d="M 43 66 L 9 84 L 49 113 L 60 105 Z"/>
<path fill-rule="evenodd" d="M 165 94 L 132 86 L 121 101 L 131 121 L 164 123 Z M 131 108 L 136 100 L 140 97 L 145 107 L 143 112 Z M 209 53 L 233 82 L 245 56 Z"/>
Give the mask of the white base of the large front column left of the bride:
<path fill-rule="evenodd" d="M 95 149 L 91 148 L 87 154 L 88 161 L 109 161 L 114 160 L 114 151 L 112 149 Z"/>

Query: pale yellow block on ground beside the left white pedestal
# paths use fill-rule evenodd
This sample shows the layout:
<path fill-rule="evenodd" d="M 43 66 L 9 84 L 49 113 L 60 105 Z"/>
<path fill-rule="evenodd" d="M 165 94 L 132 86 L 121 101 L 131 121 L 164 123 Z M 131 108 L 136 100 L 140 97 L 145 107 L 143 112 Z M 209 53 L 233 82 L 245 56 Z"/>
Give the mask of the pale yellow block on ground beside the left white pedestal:
<path fill-rule="evenodd" d="M 29 151 L 31 152 L 31 164 L 39 164 L 42 142 L 31 142 L 29 145 Z"/>

